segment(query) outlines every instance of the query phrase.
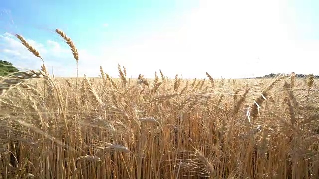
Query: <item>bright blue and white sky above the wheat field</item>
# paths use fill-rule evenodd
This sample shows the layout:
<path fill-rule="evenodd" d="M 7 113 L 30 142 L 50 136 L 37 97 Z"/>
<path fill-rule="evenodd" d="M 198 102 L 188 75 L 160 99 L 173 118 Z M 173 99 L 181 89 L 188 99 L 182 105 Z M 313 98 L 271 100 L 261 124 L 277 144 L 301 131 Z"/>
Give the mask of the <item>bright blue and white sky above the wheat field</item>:
<path fill-rule="evenodd" d="M 318 73 L 318 0 L 1 0 L 0 59 L 21 69 L 42 65 L 56 77 L 76 76 L 76 61 L 55 33 L 79 52 L 79 76 L 100 66 L 118 77 L 244 78 Z"/>

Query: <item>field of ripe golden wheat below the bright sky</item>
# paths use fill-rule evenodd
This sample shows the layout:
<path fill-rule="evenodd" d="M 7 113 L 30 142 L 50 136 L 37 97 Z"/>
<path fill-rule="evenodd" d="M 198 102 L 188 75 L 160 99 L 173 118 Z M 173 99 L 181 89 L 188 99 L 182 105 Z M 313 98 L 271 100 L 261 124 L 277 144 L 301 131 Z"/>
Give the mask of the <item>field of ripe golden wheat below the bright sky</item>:
<path fill-rule="evenodd" d="M 312 74 L 133 79 L 119 64 L 119 78 L 55 78 L 42 60 L 0 79 L 1 179 L 319 178 Z"/>

